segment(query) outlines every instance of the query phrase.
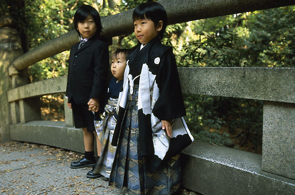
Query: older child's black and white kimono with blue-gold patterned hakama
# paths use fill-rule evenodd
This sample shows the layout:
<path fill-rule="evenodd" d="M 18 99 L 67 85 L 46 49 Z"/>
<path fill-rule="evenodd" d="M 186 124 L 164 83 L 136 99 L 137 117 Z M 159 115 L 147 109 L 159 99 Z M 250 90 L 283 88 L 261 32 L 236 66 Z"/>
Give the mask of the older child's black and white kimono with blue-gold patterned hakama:
<path fill-rule="evenodd" d="M 193 140 L 172 48 L 158 37 L 129 55 L 118 120 L 112 138 L 117 150 L 109 183 L 134 194 L 170 194 L 180 186 L 180 150 Z M 172 138 L 161 120 L 173 120 Z"/>

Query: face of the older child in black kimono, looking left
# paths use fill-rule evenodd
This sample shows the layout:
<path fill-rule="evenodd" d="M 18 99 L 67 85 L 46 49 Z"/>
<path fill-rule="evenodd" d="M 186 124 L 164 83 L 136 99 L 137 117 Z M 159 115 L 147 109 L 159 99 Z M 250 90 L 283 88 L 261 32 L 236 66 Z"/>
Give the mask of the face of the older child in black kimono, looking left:
<path fill-rule="evenodd" d="M 153 21 L 144 18 L 134 20 L 134 33 L 140 43 L 146 44 L 151 39 L 156 37 L 159 31 L 162 29 L 162 21 L 160 20 L 156 25 Z"/>

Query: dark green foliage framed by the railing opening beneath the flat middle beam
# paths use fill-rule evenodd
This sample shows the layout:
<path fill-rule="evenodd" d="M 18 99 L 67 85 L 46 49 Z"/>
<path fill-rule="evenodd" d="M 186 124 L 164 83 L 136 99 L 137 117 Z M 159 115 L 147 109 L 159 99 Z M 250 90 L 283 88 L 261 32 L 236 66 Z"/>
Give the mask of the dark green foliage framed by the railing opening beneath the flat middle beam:
<path fill-rule="evenodd" d="M 195 139 L 261 152 L 261 100 L 185 95 L 185 121 Z"/>

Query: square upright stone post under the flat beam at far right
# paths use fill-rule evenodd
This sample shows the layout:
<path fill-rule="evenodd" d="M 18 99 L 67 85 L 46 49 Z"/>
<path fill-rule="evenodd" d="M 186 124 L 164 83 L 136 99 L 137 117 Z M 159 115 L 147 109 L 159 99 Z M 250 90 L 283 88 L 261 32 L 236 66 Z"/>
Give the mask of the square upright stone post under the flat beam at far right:
<path fill-rule="evenodd" d="M 294 103 L 263 103 L 262 170 L 295 179 Z"/>

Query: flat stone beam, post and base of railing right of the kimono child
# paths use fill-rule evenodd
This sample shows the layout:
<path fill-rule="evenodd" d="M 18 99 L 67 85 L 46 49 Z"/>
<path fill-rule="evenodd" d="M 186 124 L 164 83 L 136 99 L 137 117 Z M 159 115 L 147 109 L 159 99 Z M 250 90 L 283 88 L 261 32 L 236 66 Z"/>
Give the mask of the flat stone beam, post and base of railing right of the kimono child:
<path fill-rule="evenodd" d="M 295 68 L 184 68 L 179 75 L 184 93 L 263 100 L 262 155 L 194 141 L 182 151 L 183 185 L 202 194 L 293 194 Z"/>

